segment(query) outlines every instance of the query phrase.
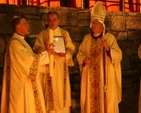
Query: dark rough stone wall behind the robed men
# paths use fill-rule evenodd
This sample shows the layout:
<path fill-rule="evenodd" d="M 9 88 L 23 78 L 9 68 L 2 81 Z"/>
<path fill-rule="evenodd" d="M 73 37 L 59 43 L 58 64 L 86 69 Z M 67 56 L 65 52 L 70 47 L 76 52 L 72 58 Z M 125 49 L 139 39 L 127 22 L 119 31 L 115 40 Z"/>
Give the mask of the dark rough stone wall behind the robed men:
<path fill-rule="evenodd" d="M 30 35 L 28 35 L 27 41 L 32 47 L 39 32 L 46 27 L 46 16 L 49 10 L 56 10 L 60 14 L 60 26 L 68 30 L 76 46 L 74 53 L 75 66 L 70 67 L 69 70 L 72 90 L 71 111 L 72 113 L 79 113 L 80 74 L 76 54 L 84 35 L 90 32 L 90 11 L 88 9 L 0 4 L 0 84 L 2 84 L 5 47 L 13 33 L 11 27 L 13 16 L 23 14 L 27 17 L 30 25 Z M 141 14 L 107 12 L 105 25 L 106 30 L 115 35 L 123 52 L 123 96 L 120 103 L 120 113 L 137 113 L 139 77 L 141 74 L 141 60 L 137 56 L 137 49 L 141 42 Z"/>

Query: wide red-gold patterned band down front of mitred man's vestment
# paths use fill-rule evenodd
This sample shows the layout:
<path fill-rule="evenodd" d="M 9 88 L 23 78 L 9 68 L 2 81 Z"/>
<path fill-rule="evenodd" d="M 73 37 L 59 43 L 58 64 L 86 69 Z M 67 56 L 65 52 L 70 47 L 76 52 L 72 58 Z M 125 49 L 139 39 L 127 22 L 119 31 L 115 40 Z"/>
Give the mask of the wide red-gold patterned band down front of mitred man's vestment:
<path fill-rule="evenodd" d="M 101 38 L 92 38 L 90 53 L 90 111 L 100 113 Z"/>

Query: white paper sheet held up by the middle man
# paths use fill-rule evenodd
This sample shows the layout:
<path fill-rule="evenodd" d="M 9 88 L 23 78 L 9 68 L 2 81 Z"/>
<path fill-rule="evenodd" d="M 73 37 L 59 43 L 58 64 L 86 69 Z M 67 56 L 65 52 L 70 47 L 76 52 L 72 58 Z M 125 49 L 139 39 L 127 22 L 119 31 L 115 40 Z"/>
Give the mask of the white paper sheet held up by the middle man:
<path fill-rule="evenodd" d="M 62 36 L 54 36 L 54 50 L 56 53 L 65 53 L 65 44 Z"/>

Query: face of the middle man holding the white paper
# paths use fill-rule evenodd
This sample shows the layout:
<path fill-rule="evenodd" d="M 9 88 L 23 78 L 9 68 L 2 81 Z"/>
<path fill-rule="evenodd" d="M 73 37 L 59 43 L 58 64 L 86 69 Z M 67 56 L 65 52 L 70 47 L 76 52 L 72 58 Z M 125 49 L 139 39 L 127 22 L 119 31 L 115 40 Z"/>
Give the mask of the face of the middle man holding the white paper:
<path fill-rule="evenodd" d="M 60 20 L 58 19 L 56 14 L 50 14 L 48 15 L 48 19 L 47 19 L 48 25 L 51 29 L 56 29 Z"/>

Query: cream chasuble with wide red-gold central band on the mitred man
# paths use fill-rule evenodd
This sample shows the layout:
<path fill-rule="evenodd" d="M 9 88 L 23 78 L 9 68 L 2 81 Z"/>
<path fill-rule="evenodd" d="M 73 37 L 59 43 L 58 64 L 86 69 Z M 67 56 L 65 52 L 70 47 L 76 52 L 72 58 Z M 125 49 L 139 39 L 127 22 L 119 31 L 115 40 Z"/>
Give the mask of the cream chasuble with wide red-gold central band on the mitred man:
<path fill-rule="evenodd" d="M 81 113 L 105 113 L 104 79 L 107 87 L 107 113 L 119 113 L 118 104 L 121 101 L 120 61 L 122 52 L 112 34 L 107 33 L 104 39 L 107 41 L 111 52 L 111 58 L 105 53 L 105 63 L 103 63 L 101 38 L 94 39 L 88 34 L 84 37 L 79 47 L 77 59 L 81 73 Z M 84 66 L 83 60 L 85 58 L 90 59 L 90 64 L 85 64 Z"/>

